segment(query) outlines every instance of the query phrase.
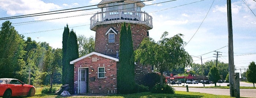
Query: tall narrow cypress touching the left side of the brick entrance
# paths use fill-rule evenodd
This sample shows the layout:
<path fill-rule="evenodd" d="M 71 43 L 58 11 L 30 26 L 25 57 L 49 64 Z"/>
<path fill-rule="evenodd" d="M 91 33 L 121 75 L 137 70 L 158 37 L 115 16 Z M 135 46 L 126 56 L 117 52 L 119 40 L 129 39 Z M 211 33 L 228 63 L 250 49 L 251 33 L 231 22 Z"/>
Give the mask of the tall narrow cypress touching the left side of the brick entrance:
<path fill-rule="evenodd" d="M 77 59 L 79 56 L 78 54 L 78 44 L 77 44 L 77 35 L 75 34 L 74 30 L 70 31 L 70 35 L 67 40 L 67 61 L 68 66 L 67 69 L 67 84 L 70 84 L 71 92 L 74 93 L 74 65 L 70 64 L 70 61 Z"/>

